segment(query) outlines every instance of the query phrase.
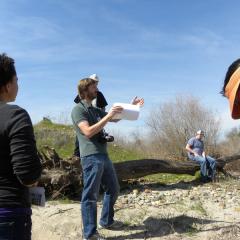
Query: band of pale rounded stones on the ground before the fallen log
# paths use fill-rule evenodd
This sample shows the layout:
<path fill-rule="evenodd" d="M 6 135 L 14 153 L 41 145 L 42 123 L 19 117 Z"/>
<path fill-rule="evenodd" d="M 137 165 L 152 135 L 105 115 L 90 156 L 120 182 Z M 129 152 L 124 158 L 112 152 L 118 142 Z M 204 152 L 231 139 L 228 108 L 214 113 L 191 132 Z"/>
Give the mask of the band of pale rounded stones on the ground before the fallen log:
<path fill-rule="evenodd" d="M 188 183 L 181 183 L 177 187 L 159 186 L 154 189 L 133 189 L 124 193 L 118 199 L 119 207 L 137 206 L 162 206 L 164 204 L 177 204 L 181 202 L 202 201 L 235 206 L 240 204 L 240 186 L 236 184 L 209 183 L 205 185 L 191 186 Z"/>

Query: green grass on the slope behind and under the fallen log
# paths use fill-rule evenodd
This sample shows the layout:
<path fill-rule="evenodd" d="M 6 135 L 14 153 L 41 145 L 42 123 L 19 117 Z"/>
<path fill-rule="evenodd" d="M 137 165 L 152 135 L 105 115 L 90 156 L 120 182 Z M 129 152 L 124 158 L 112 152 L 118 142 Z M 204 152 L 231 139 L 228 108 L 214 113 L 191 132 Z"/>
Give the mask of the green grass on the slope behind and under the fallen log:
<path fill-rule="evenodd" d="M 34 126 L 34 131 L 38 149 L 41 149 L 44 145 L 48 145 L 54 147 L 61 158 L 72 156 L 76 137 L 73 126 L 43 120 Z M 108 146 L 108 152 L 113 162 L 145 158 L 144 155 L 136 152 L 134 149 L 123 148 L 112 143 Z M 154 174 L 145 177 L 145 180 L 168 184 L 182 180 L 191 181 L 196 177 L 198 177 L 198 175 Z"/>

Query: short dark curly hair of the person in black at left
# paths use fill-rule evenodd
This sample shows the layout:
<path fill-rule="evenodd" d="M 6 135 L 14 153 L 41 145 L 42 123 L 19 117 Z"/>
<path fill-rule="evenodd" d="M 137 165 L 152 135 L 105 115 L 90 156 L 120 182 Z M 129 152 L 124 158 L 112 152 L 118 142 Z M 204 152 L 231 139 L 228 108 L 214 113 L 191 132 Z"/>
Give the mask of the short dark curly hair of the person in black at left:
<path fill-rule="evenodd" d="M 14 60 L 5 53 L 0 54 L 0 88 L 11 82 L 16 76 Z"/>

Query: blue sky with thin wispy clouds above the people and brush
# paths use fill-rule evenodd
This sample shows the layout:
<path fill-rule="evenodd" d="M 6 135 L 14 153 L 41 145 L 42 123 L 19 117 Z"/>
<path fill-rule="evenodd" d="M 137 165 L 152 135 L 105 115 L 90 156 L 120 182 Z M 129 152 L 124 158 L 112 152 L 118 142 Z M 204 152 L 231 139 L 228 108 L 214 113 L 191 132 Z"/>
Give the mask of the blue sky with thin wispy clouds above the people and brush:
<path fill-rule="evenodd" d="M 223 130 L 238 125 L 219 91 L 240 53 L 237 0 L 1 0 L 0 51 L 16 60 L 16 103 L 34 123 L 69 116 L 79 79 L 92 73 L 109 105 L 145 98 L 137 122 L 176 94 L 193 95 L 221 117 Z M 65 118 L 64 117 L 64 118 Z"/>

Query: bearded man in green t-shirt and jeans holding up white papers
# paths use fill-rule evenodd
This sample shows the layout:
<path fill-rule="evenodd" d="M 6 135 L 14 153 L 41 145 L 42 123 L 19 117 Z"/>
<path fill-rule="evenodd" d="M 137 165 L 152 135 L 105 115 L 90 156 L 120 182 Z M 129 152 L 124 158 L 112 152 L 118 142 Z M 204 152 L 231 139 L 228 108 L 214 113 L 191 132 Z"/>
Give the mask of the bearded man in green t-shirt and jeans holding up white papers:
<path fill-rule="evenodd" d="M 108 113 L 92 106 L 97 96 L 97 81 L 84 78 L 78 84 L 81 101 L 72 110 L 72 120 L 77 133 L 80 158 L 83 169 L 83 192 L 81 211 L 84 239 L 103 239 L 97 232 L 97 198 L 100 185 L 104 189 L 104 199 L 99 228 L 116 228 L 114 204 L 119 193 L 119 184 L 111 160 L 107 154 L 107 138 L 104 126 L 115 121 L 112 118 L 123 108 L 114 106 Z M 143 105 L 144 100 L 135 98 L 132 104 Z"/>

